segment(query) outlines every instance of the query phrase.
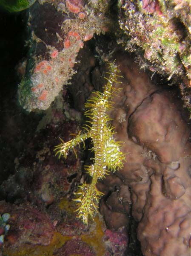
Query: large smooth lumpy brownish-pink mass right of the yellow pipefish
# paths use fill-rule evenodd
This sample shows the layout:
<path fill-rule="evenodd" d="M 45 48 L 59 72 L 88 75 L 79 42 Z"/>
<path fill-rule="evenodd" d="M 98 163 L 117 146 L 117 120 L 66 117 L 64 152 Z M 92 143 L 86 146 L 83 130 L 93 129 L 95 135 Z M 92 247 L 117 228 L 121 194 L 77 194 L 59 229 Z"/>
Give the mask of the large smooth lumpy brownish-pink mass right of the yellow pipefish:
<path fill-rule="evenodd" d="M 111 177 L 100 183 L 109 191 L 101 212 L 109 227 L 119 228 L 128 224 L 124 209 L 131 211 L 145 256 L 189 256 L 191 143 L 181 102 L 176 90 L 152 84 L 131 58 L 117 63 L 123 90 L 111 115 L 128 155 L 112 183 Z"/>

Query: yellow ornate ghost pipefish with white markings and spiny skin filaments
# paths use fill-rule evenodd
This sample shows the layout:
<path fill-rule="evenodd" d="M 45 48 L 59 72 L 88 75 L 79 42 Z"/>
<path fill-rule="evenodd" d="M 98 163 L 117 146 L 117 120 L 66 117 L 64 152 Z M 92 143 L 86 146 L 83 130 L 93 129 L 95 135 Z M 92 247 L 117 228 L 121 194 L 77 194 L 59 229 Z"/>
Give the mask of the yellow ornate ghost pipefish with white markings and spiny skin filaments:
<path fill-rule="evenodd" d="M 85 116 L 89 119 L 86 121 L 84 129 L 86 132 L 79 133 L 77 137 L 66 143 L 62 141 L 57 145 L 55 150 L 59 157 L 63 155 L 67 157 L 67 152 L 74 146 L 83 143 L 87 138 L 91 138 L 93 142 L 92 151 L 94 151 L 93 164 L 86 166 L 86 171 L 92 177 L 91 184 L 83 183 L 79 186 L 79 192 L 76 193 L 77 198 L 74 201 L 78 202 L 77 217 L 81 218 L 85 224 L 88 224 L 88 215 L 93 218 L 93 214 L 97 211 L 99 199 L 103 196 L 97 187 L 97 180 L 103 179 L 110 171 L 115 172 L 123 168 L 125 154 L 120 151 L 121 143 L 114 139 L 114 128 L 109 125 L 111 119 L 108 116 L 108 110 L 112 108 L 112 98 L 117 94 L 118 90 L 113 87 L 114 82 L 120 76 L 117 75 L 119 70 L 114 63 L 110 63 L 109 78 L 105 78 L 107 83 L 103 93 L 98 91 L 93 93 L 91 99 L 88 99 L 85 104 Z M 74 149 L 75 152 L 75 149 Z"/>

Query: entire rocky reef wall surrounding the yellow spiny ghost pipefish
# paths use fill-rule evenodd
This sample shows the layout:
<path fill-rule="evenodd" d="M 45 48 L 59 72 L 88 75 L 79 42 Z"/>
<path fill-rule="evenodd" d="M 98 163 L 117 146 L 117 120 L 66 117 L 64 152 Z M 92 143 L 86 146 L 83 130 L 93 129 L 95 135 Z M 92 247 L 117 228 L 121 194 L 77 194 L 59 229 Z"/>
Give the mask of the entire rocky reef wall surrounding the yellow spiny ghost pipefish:
<path fill-rule="evenodd" d="M 31 113 L 15 89 L 2 94 L 0 214 L 10 230 L 1 229 L 0 253 L 191 254 L 190 9 L 186 0 L 41 0 L 26 11 L 18 95 Z M 99 180 L 104 221 L 86 227 L 72 199 L 91 182 L 91 141 L 77 159 L 58 161 L 54 146 L 83 128 L 84 104 L 103 92 L 114 60 L 123 78 L 108 114 L 126 162 Z"/>

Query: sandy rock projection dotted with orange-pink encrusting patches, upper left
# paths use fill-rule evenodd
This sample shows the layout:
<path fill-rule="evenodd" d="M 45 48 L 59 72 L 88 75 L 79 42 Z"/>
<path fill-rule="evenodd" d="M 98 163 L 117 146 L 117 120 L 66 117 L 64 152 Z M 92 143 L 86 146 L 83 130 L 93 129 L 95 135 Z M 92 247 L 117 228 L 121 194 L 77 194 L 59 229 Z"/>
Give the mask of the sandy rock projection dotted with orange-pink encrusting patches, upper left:
<path fill-rule="evenodd" d="M 112 24 L 105 14 L 91 15 L 82 0 L 66 0 L 66 5 L 59 1 L 45 2 L 35 11 L 30 10 L 31 42 L 36 46 L 31 48 L 29 59 L 34 67 L 27 71 L 29 74 L 21 81 L 18 92 L 20 104 L 28 111 L 45 110 L 50 106 L 75 73 L 73 68 L 83 41 L 90 40 L 94 33 L 104 33 L 102 28 Z M 68 15 L 70 19 L 66 19 Z M 44 101 L 39 100 L 42 92 L 34 89 L 41 83 L 44 90 L 51 91 Z M 31 92 L 26 93 L 26 87 Z"/>

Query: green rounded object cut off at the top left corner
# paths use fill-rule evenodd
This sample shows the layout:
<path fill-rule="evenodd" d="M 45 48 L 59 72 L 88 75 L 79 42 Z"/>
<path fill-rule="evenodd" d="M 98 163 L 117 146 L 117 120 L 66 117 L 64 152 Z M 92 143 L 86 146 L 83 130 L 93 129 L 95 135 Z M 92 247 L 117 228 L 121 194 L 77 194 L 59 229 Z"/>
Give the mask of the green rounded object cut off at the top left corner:
<path fill-rule="evenodd" d="M 0 0 L 0 9 L 20 12 L 32 6 L 36 0 Z"/>

